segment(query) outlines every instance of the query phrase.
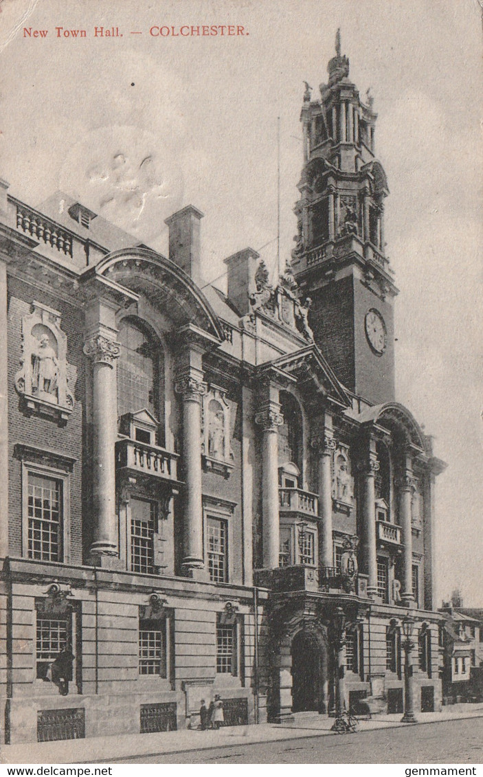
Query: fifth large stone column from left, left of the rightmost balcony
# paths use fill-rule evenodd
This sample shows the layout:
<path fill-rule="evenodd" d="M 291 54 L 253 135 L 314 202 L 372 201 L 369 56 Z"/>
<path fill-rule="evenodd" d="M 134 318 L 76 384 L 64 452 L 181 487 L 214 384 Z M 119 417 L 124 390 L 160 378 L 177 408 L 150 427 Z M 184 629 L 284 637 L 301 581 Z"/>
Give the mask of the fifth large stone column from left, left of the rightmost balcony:
<path fill-rule="evenodd" d="M 367 459 L 362 469 L 362 514 L 363 514 L 363 569 L 369 576 L 367 593 L 377 594 L 377 545 L 376 545 L 376 492 L 374 476 L 379 470 L 376 443 L 370 440 Z"/>

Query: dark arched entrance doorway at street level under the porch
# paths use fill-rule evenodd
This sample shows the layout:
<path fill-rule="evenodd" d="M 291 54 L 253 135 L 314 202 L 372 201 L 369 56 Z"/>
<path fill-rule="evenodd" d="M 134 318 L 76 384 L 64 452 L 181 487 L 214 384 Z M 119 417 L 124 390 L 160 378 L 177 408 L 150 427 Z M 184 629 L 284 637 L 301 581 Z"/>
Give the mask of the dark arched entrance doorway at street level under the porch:
<path fill-rule="evenodd" d="M 327 662 L 321 642 L 306 631 L 292 640 L 292 711 L 325 711 Z"/>

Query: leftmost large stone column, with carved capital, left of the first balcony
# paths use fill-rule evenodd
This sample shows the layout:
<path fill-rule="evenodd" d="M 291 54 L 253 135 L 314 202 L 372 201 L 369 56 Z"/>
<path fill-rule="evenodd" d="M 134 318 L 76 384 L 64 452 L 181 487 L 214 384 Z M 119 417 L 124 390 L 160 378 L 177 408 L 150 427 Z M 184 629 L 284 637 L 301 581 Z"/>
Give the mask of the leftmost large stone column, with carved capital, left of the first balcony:
<path fill-rule="evenodd" d="M 85 341 L 84 353 L 92 360 L 92 497 L 94 542 L 90 555 L 99 566 L 118 556 L 116 515 L 117 383 L 116 358 L 120 345 L 104 334 Z"/>

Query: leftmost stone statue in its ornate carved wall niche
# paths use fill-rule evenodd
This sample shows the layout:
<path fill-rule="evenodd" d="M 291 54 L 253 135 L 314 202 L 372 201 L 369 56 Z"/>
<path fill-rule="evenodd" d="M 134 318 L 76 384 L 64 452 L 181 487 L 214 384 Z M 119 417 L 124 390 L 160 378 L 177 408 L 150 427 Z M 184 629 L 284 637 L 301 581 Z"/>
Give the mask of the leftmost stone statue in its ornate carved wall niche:
<path fill-rule="evenodd" d="M 15 387 L 29 413 L 67 420 L 74 407 L 68 385 L 67 336 L 61 314 L 33 302 L 22 319 L 22 354 Z"/>

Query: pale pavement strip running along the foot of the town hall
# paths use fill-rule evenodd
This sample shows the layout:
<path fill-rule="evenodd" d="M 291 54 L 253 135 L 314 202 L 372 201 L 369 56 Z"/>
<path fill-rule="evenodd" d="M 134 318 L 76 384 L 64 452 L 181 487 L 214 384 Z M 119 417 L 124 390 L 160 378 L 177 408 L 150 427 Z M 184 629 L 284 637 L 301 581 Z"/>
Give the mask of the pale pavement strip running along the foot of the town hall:
<path fill-rule="evenodd" d="M 483 717 L 483 704 L 455 704 L 443 707 L 440 713 L 417 713 L 419 725 L 445 720 Z M 116 737 L 29 744 L 5 744 L 0 752 L 2 764 L 97 764 L 120 763 L 123 758 L 211 750 L 240 744 L 260 744 L 307 737 L 336 736 L 333 718 L 301 713 L 286 723 L 261 723 L 258 726 L 230 726 L 218 731 L 185 729 L 162 733 L 124 734 Z M 408 727 L 401 723 L 401 714 L 377 715 L 360 720 L 359 731 Z"/>

